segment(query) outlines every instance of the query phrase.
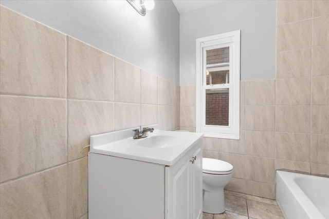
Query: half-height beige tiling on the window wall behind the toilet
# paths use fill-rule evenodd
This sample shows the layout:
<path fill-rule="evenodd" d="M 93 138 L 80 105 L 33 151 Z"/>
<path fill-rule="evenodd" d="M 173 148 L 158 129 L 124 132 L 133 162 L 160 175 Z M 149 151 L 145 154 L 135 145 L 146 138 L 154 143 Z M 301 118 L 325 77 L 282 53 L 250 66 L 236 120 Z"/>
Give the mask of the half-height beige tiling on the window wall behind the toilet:
<path fill-rule="evenodd" d="M 234 166 L 226 189 L 275 198 L 275 80 L 241 82 L 240 88 L 240 140 L 205 137 L 204 157 Z M 180 89 L 180 126 L 194 131 L 195 122 L 187 116 L 195 117 L 195 86 Z"/>

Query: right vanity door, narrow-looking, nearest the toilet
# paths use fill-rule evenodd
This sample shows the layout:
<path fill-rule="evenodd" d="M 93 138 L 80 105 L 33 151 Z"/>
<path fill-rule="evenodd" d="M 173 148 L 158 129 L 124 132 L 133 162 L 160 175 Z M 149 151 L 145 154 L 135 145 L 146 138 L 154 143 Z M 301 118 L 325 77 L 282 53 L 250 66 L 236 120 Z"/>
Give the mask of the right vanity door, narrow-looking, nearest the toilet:
<path fill-rule="evenodd" d="M 192 197 L 192 218 L 202 219 L 202 149 L 198 149 L 193 157 L 196 157 L 191 165 L 191 197 Z"/>

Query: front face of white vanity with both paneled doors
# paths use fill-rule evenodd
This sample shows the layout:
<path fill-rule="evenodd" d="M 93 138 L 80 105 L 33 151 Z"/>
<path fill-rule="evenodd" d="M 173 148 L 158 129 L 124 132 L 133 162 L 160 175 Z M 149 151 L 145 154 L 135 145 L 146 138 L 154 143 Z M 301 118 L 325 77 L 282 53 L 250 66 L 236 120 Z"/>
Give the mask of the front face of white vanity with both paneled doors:
<path fill-rule="evenodd" d="M 166 219 L 202 218 L 202 148 L 166 167 Z"/>

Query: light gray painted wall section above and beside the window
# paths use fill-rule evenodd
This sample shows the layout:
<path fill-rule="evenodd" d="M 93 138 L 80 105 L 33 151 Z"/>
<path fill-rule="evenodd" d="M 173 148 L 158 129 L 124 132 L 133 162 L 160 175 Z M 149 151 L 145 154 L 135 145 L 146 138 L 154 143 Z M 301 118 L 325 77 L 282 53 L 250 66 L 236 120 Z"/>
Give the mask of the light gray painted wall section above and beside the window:
<path fill-rule="evenodd" d="M 241 81 L 276 77 L 276 1 L 224 1 L 180 14 L 180 85 L 195 85 L 195 39 L 241 30 Z"/>

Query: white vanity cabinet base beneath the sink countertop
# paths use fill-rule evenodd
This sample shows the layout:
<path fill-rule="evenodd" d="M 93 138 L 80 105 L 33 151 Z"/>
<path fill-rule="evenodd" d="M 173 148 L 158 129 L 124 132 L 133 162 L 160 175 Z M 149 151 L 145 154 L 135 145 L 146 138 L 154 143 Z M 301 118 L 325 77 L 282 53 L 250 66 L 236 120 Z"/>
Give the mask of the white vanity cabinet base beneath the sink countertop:
<path fill-rule="evenodd" d="M 88 188 L 89 219 L 202 219 L 202 135 L 173 165 L 90 151 Z"/>

